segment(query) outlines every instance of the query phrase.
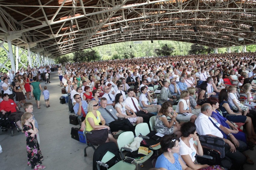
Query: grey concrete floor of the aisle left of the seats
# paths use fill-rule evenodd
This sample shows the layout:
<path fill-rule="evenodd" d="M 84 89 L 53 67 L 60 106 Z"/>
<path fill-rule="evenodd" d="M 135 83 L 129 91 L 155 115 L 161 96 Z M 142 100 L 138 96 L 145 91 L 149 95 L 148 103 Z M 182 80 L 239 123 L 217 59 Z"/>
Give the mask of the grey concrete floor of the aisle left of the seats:
<path fill-rule="evenodd" d="M 63 70 L 63 69 L 62 69 Z M 27 100 L 33 103 L 34 115 L 38 121 L 40 149 L 44 156 L 43 164 L 49 170 L 91 170 L 93 160 L 93 149 L 87 148 L 87 157 L 84 157 L 84 147 L 86 144 L 80 143 L 71 138 L 70 131 L 72 127 L 79 127 L 69 124 L 68 104 L 60 104 L 59 98 L 61 88 L 59 86 L 59 77 L 57 72 L 50 75 L 50 85 L 41 83 L 42 88 L 48 87 L 50 91 L 50 107 L 46 108 L 44 96 L 41 95 L 41 109 L 37 109 L 35 99 Z M 23 109 L 21 109 L 23 111 Z M 72 113 L 74 114 L 74 113 Z M 3 152 L 0 154 L 1 170 L 29 170 L 27 166 L 26 136 L 24 133 L 14 131 L 11 136 L 11 130 L 2 132 L 0 135 L 0 145 Z M 255 147 L 256 149 L 256 147 Z M 246 153 L 256 163 L 255 151 L 246 151 Z M 151 160 L 148 160 L 142 170 L 152 167 Z M 245 164 L 247 170 L 255 169 L 254 165 Z"/>

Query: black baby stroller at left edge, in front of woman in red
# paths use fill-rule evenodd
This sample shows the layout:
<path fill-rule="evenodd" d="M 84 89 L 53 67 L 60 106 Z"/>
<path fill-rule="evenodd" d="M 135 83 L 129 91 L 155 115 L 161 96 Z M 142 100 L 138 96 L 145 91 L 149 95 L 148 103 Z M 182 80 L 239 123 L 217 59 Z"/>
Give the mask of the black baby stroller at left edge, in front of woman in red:
<path fill-rule="evenodd" d="M 16 127 L 19 132 L 16 123 L 13 120 L 9 119 L 10 114 L 11 111 L 6 112 L 4 115 L 2 114 L 2 112 L 0 112 L 0 135 L 3 131 L 6 132 L 9 128 L 11 128 L 11 136 L 14 136 L 14 127 Z"/>

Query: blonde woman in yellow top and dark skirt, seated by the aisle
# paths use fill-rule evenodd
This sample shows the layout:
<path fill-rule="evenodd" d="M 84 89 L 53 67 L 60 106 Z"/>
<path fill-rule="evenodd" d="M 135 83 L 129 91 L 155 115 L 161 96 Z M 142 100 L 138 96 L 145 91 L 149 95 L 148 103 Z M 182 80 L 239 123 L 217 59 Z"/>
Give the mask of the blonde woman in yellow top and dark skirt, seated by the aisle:
<path fill-rule="evenodd" d="M 82 122 L 81 130 L 84 130 L 86 127 L 87 131 L 92 132 L 91 134 L 86 133 L 87 140 L 90 141 L 93 145 L 100 145 L 105 142 L 115 142 L 117 144 L 117 140 L 112 136 L 111 131 L 109 130 L 109 126 L 105 125 L 105 119 L 101 116 L 98 109 L 97 101 L 90 101 L 87 107 L 88 113 L 86 115 L 85 120 Z M 99 125 L 99 122 L 102 125 Z"/>

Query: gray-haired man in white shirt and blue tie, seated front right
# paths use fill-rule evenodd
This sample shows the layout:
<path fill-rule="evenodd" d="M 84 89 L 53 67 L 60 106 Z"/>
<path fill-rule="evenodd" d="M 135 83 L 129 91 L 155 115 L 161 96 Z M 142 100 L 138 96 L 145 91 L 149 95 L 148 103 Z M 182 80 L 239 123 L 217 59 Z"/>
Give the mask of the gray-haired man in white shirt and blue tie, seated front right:
<path fill-rule="evenodd" d="M 247 158 L 241 152 L 246 150 L 246 143 L 237 140 L 224 126 L 212 119 L 211 115 L 212 106 L 209 103 L 203 104 L 201 107 L 201 113 L 199 113 L 195 121 L 197 133 L 199 135 L 223 138 L 225 142 L 226 157 L 229 157 L 232 160 L 234 169 L 242 169 L 242 166 L 245 164 Z M 230 169 L 230 167 L 225 166 L 224 168 Z"/>

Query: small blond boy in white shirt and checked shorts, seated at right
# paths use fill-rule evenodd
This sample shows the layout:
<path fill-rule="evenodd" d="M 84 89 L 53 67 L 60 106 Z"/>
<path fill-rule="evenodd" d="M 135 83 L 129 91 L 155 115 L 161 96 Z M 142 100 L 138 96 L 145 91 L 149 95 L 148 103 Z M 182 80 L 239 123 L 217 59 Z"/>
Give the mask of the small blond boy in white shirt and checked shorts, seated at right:
<path fill-rule="evenodd" d="M 228 103 L 231 105 L 232 109 L 239 112 L 244 111 L 243 115 L 246 116 L 249 111 L 249 107 L 241 104 L 240 101 L 237 99 L 236 86 L 230 86 L 228 88 L 228 92 Z"/>

